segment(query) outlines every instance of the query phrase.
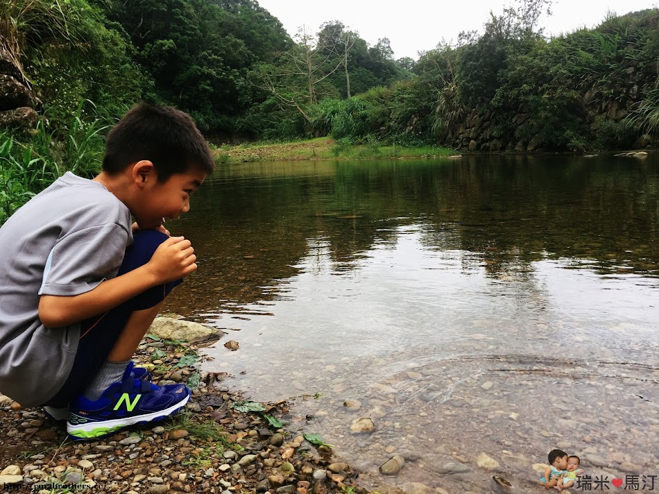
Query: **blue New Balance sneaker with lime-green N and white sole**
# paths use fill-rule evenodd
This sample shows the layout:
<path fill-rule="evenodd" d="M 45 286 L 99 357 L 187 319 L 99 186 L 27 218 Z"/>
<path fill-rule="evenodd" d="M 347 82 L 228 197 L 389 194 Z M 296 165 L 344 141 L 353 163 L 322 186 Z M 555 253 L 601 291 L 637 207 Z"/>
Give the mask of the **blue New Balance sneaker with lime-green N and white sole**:
<path fill-rule="evenodd" d="M 105 436 L 128 425 L 176 414 L 189 399 L 185 384 L 156 386 L 145 369 L 133 368 L 130 362 L 121 382 L 109 386 L 99 400 L 80 395 L 69 404 L 67 432 L 74 439 Z"/>

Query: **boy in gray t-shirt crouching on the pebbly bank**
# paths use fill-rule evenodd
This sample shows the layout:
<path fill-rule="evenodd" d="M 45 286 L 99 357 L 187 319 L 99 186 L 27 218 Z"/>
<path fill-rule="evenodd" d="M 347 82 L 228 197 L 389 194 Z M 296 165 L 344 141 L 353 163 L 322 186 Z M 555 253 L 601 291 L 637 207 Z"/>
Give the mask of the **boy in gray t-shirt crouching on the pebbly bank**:
<path fill-rule="evenodd" d="M 68 417 L 74 438 L 187 403 L 184 384 L 155 386 L 130 359 L 169 291 L 197 268 L 190 242 L 162 224 L 189 210 L 213 168 L 187 114 L 137 105 L 108 134 L 99 176 L 65 173 L 2 225 L 1 393 Z"/>

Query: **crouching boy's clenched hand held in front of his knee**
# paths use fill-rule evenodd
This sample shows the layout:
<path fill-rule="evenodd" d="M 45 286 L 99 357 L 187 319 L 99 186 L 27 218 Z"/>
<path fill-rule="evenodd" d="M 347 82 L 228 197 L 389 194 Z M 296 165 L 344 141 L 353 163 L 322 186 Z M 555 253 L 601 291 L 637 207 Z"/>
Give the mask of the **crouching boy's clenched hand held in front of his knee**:
<path fill-rule="evenodd" d="M 153 253 L 146 267 L 153 273 L 157 284 L 178 280 L 197 269 L 197 257 L 189 240 L 169 237 Z"/>

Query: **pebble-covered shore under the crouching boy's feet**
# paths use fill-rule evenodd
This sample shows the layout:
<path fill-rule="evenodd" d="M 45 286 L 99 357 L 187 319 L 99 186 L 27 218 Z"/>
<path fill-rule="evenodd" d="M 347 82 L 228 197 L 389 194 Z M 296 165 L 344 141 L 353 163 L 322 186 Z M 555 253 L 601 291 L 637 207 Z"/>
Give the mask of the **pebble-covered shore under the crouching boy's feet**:
<path fill-rule="evenodd" d="M 300 420 L 286 402 L 246 402 L 223 386 L 225 375 L 199 373 L 194 343 L 151 334 L 133 360 L 156 384 L 186 382 L 187 409 L 96 441 L 71 441 L 64 422 L 1 396 L 0 492 L 366 492 L 330 447 L 286 432 Z"/>

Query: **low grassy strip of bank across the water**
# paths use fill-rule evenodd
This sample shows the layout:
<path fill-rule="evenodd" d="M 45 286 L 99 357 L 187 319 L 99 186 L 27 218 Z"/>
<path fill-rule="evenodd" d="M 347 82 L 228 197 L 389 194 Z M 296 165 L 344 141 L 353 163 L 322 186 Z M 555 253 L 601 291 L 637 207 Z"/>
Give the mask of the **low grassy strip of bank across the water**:
<path fill-rule="evenodd" d="M 439 157 L 454 154 L 449 148 L 439 146 L 384 146 L 377 142 L 350 144 L 331 137 L 318 137 L 305 141 L 273 144 L 255 142 L 239 146 L 221 146 L 214 150 L 217 163 L 248 163 L 257 161 L 300 161 L 300 160 L 370 160 Z"/>

